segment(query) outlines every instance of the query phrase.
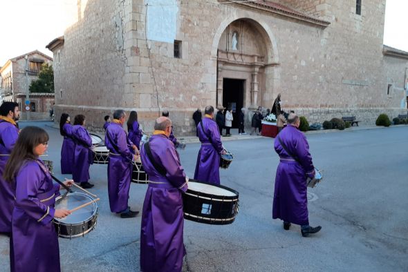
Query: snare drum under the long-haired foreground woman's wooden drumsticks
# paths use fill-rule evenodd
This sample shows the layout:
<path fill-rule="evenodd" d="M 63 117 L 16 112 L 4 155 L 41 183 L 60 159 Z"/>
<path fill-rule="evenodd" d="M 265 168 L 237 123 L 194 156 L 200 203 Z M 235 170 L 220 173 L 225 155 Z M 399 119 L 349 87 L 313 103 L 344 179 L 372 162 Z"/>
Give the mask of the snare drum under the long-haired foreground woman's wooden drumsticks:
<path fill-rule="evenodd" d="M 67 193 L 57 197 L 55 208 L 72 210 L 92 200 L 94 200 L 93 197 L 84 193 Z M 74 211 L 67 217 L 61 219 L 54 218 L 53 223 L 59 237 L 71 239 L 84 236 L 95 229 L 97 219 L 98 204 L 93 202 L 91 205 Z"/>

